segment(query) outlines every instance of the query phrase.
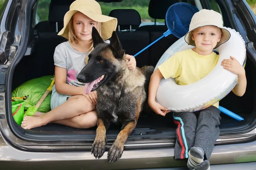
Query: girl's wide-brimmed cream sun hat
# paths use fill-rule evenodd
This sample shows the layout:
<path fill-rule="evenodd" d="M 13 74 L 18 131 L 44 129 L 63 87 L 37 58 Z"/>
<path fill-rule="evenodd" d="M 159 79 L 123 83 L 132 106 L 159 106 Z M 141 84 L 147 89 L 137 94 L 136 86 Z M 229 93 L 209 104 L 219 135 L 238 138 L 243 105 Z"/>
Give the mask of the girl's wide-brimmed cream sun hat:
<path fill-rule="evenodd" d="M 95 0 L 76 0 L 70 5 L 70 10 L 64 16 L 64 27 L 58 35 L 68 39 L 68 26 L 71 17 L 80 11 L 90 19 L 102 23 L 101 34 L 102 39 L 107 40 L 112 36 L 112 32 L 116 30 L 117 19 L 102 15 L 99 3 Z"/>

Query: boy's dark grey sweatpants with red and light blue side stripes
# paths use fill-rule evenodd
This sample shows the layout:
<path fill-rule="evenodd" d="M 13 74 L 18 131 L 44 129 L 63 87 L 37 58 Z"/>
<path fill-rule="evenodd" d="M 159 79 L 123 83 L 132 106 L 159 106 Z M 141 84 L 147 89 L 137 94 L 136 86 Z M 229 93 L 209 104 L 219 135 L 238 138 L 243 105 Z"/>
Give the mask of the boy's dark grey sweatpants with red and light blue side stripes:
<path fill-rule="evenodd" d="M 220 113 L 215 106 L 197 112 L 173 113 L 177 125 L 175 159 L 187 159 L 190 148 L 195 146 L 201 147 L 209 160 L 220 134 Z"/>

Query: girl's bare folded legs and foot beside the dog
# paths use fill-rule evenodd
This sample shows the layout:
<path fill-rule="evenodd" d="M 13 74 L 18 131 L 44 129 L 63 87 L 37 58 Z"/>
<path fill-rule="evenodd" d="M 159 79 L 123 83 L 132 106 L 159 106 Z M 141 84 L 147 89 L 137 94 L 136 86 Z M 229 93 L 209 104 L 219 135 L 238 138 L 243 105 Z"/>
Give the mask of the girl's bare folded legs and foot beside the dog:
<path fill-rule="evenodd" d="M 85 96 L 71 96 L 66 102 L 48 113 L 35 113 L 35 116 L 25 116 L 21 127 L 32 129 L 48 123 L 58 123 L 75 128 L 89 128 L 96 125 L 96 105 L 90 103 Z"/>

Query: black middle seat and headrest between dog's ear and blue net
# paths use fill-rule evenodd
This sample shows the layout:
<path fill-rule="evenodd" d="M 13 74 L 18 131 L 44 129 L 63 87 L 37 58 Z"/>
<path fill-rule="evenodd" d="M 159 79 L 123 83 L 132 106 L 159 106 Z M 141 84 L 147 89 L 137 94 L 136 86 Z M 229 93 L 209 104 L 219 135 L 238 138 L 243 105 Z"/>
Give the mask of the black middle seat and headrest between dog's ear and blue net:
<path fill-rule="evenodd" d="M 109 14 L 117 18 L 116 31 L 119 40 L 126 54 L 134 55 L 150 42 L 148 31 L 131 31 L 140 26 L 140 14 L 134 9 L 114 9 Z M 131 28 L 131 29 L 130 29 Z M 127 29 L 128 31 L 122 31 Z M 143 51 L 136 57 L 138 67 L 149 64 L 149 49 Z"/>

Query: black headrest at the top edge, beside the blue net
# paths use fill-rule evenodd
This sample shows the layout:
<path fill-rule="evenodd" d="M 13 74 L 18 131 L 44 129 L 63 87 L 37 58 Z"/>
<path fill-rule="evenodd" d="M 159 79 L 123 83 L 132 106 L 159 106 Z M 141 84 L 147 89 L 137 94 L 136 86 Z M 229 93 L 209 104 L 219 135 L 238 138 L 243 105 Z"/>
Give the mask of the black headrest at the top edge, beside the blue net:
<path fill-rule="evenodd" d="M 179 0 L 150 0 L 148 5 L 148 15 L 154 19 L 166 19 L 167 9 L 178 3 Z"/>

